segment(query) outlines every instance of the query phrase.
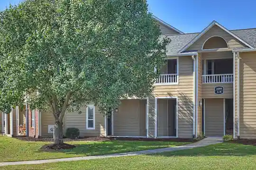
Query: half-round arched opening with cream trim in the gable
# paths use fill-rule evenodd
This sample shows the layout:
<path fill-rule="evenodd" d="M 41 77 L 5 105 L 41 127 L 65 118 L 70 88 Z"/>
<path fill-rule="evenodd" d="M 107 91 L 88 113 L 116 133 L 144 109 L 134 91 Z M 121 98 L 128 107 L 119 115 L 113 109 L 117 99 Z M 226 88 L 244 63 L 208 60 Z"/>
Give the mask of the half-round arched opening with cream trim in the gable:
<path fill-rule="evenodd" d="M 202 45 L 202 50 L 229 48 L 226 40 L 220 36 L 211 36 Z"/>

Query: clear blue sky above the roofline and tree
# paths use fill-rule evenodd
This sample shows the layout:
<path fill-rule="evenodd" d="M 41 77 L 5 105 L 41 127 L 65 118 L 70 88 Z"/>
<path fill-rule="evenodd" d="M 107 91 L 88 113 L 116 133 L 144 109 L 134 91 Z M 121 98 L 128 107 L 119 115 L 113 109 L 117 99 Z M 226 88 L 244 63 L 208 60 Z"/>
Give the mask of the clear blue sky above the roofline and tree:
<path fill-rule="evenodd" d="M 185 33 L 216 20 L 229 30 L 256 28 L 256 0 L 147 0 L 149 11 Z M 20 0 L 0 0 L 0 10 Z"/>

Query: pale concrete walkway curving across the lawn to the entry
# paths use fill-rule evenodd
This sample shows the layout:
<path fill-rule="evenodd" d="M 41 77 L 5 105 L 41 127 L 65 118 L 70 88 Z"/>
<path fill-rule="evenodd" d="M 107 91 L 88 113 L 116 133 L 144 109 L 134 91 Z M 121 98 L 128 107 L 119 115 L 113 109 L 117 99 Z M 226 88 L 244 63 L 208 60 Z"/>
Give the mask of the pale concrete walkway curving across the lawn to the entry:
<path fill-rule="evenodd" d="M 218 144 L 218 143 L 221 143 L 221 142 L 222 142 L 221 137 L 207 137 L 207 138 L 205 138 L 201 141 L 198 141 L 196 143 L 186 144 L 186 145 L 183 145 L 183 146 L 174 146 L 174 147 L 168 147 L 168 148 L 152 149 L 152 150 L 136 151 L 136 152 L 128 152 L 128 153 L 115 153 L 115 154 L 96 155 L 96 156 L 83 156 L 83 157 L 74 157 L 74 158 L 60 158 L 60 159 L 36 160 L 36 161 L 0 162 L 0 166 L 53 163 L 53 162 L 59 162 L 59 161 L 81 161 L 81 160 L 113 158 L 113 157 L 121 157 L 121 156 L 136 156 L 136 155 L 142 155 L 142 154 L 163 153 L 163 152 L 179 151 L 179 150 L 184 150 L 184 149 L 192 149 L 192 148 L 195 148 L 195 147 L 207 146 L 207 145 L 210 145 L 210 144 Z"/>

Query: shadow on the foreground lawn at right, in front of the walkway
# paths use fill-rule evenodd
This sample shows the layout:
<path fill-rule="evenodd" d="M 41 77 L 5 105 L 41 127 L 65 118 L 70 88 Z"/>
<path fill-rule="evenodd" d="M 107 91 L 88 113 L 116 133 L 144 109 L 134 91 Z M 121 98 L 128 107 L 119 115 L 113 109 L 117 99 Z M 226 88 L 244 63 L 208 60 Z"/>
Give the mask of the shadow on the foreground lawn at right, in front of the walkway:
<path fill-rule="evenodd" d="M 152 156 L 247 156 L 256 155 L 256 146 L 243 144 L 214 144 L 174 152 L 150 154 Z"/>

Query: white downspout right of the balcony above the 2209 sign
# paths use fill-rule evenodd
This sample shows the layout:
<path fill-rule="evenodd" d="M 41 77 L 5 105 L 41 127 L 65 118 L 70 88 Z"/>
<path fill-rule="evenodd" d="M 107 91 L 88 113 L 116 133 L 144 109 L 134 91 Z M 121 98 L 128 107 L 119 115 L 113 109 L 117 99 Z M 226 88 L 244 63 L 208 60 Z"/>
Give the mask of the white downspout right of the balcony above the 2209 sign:
<path fill-rule="evenodd" d="M 233 53 L 233 138 L 236 137 L 236 52 Z"/>

